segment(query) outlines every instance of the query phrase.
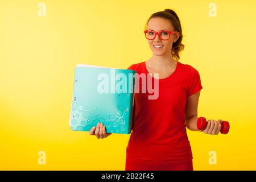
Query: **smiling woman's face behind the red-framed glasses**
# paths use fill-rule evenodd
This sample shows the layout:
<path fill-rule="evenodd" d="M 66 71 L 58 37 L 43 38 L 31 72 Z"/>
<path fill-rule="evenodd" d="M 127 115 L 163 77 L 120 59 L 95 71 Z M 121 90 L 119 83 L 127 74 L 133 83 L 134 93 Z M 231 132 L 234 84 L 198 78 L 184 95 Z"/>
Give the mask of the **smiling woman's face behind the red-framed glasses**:
<path fill-rule="evenodd" d="M 156 32 L 167 30 L 174 31 L 170 20 L 163 18 L 151 18 L 147 24 L 147 30 L 154 30 Z M 158 35 L 155 36 L 155 39 L 148 40 L 148 44 L 155 55 L 171 55 L 172 43 L 179 38 L 179 32 L 177 34 L 171 34 L 170 39 L 161 40 Z M 156 48 L 154 45 L 162 45 L 161 48 Z"/>

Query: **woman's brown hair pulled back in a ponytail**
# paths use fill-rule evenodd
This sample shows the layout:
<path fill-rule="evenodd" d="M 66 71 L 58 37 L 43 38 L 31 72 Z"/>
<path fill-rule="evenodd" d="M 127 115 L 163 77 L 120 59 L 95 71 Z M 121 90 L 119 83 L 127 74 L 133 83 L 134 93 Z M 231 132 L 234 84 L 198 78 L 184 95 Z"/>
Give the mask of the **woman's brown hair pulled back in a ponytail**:
<path fill-rule="evenodd" d="M 183 35 L 182 35 L 180 19 L 174 10 L 165 9 L 164 11 L 158 11 L 158 12 L 152 14 L 150 16 L 150 18 L 147 20 L 145 29 L 147 29 L 147 24 L 151 18 L 158 18 L 158 17 L 170 20 L 170 22 L 172 23 L 172 26 L 174 26 L 174 30 L 177 32 L 180 32 L 179 39 L 177 39 L 176 42 L 174 42 L 172 44 L 172 57 L 175 60 L 179 60 L 180 59 L 180 51 L 182 51 L 185 47 L 183 44 L 181 44 Z"/>

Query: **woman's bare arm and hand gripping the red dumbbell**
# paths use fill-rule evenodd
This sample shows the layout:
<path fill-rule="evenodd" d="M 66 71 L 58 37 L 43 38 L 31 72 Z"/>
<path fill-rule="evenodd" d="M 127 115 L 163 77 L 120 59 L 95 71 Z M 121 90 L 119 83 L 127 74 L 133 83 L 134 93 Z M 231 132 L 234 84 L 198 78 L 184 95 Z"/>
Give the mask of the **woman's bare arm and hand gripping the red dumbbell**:
<path fill-rule="evenodd" d="M 200 90 L 199 92 L 196 92 L 192 96 L 188 97 L 187 105 L 186 105 L 186 120 L 185 125 L 186 127 L 191 131 L 201 131 L 197 129 L 197 107 L 199 102 L 199 96 L 200 96 Z M 221 123 L 222 120 L 218 119 L 218 121 L 215 121 L 213 119 L 209 119 L 207 122 L 207 127 L 202 132 L 205 134 L 212 134 L 217 135 L 221 130 Z"/>

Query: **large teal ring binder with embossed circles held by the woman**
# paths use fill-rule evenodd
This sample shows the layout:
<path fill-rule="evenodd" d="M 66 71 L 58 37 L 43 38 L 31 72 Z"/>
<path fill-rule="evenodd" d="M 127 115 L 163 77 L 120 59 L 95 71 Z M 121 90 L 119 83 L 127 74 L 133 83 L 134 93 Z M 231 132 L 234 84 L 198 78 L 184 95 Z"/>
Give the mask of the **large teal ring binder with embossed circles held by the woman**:
<path fill-rule="evenodd" d="M 90 131 L 98 122 L 107 133 L 130 134 L 136 72 L 77 64 L 69 125 Z"/>

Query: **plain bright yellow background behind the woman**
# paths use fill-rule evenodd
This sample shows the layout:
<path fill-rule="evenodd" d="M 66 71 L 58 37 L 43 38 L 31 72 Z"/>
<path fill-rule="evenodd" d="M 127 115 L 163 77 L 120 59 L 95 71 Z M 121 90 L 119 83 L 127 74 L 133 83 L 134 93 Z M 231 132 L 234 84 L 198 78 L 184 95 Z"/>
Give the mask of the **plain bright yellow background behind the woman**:
<path fill-rule="evenodd" d="M 210 17 L 211 2 L 1 0 L 0 169 L 124 170 L 130 135 L 96 139 L 69 128 L 75 66 L 126 69 L 149 59 L 144 24 L 169 8 L 183 28 L 180 62 L 201 76 L 199 116 L 231 125 L 228 135 L 188 131 L 194 169 L 255 170 L 256 2 L 213 1 Z"/>

